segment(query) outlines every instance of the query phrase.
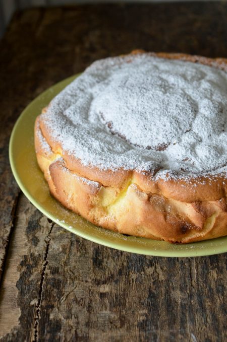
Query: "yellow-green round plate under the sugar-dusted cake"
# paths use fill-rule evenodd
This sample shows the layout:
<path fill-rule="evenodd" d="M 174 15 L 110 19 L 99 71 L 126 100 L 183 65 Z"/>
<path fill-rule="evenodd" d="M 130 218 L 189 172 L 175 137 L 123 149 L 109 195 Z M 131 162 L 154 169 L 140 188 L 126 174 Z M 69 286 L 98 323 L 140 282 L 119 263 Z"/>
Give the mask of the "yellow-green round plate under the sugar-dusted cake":
<path fill-rule="evenodd" d="M 10 139 L 10 164 L 18 185 L 28 199 L 45 216 L 85 239 L 120 250 L 157 256 L 185 257 L 218 254 L 227 251 L 227 237 L 185 245 L 125 236 L 96 227 L 64 208 L 49 193 L 36 162 L 34 122 L 41 109 L 75 77 L 70 77 L 46 90 L 33 100 L 18 118 Z"/>

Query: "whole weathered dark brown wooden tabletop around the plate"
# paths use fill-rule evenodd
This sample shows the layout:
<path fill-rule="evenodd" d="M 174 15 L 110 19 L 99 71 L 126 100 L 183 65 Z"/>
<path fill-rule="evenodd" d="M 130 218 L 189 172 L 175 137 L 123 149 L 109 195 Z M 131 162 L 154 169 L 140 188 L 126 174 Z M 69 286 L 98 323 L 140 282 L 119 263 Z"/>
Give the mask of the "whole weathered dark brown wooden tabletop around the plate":
<path fill-rule="evenodd" d="M 22 109 L 93 60 L 129 52 L 227 57 L 227 4 L 18 12 L 0 43 L 0 340 L 225 341 L 226 254 L 171 259 L 83 240 L 19 191 L 8 142 Z"/>

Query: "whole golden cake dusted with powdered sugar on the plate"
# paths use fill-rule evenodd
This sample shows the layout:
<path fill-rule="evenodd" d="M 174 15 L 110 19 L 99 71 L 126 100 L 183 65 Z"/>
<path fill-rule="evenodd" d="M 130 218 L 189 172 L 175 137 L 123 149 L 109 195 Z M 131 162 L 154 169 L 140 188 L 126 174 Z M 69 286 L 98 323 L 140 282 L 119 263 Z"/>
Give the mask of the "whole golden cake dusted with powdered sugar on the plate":
<path fill-rule="evenodd" d="M 36 119 L 51 194 L 122 234 L 227 235 L 226 71 L 223 58 L 143 51 L 93 62 Z"/>

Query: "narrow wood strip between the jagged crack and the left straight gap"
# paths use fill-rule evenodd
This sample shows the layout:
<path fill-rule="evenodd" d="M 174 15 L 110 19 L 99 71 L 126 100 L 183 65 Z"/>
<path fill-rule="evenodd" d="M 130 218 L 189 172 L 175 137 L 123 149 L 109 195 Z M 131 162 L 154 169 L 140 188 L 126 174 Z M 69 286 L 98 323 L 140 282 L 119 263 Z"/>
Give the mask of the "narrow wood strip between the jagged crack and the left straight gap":
<path fill-rule="evenodd" d="M 32 340 L 53 224 L 21 195 L 15 225 L 1 287 L 0 336 L 14 328 L 15 340 Z"/>

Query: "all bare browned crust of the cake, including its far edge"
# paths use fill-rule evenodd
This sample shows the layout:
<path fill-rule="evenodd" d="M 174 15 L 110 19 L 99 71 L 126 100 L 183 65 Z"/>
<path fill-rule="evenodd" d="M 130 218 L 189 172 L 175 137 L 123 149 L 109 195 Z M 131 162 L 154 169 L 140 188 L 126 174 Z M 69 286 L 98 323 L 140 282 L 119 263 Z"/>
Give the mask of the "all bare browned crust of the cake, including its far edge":
<path fill-rule="evenodd" d="M 220 69 L 227 66 L 227 59 L 223 58 L 152 54 Z M 43 147 L 43 141 L 49 149 Z M 218 173 L 187 180 L 172 177 L 154 180 L 152 173 L 87 167 L 53 141 L 41 115 L 35 125 L 35 147 L 51 193 L 65 207 L 96 225 L 178 243 L 227 235 L 227 181 Z M 58 157 L 61 159 L 56 160 Z"/>

